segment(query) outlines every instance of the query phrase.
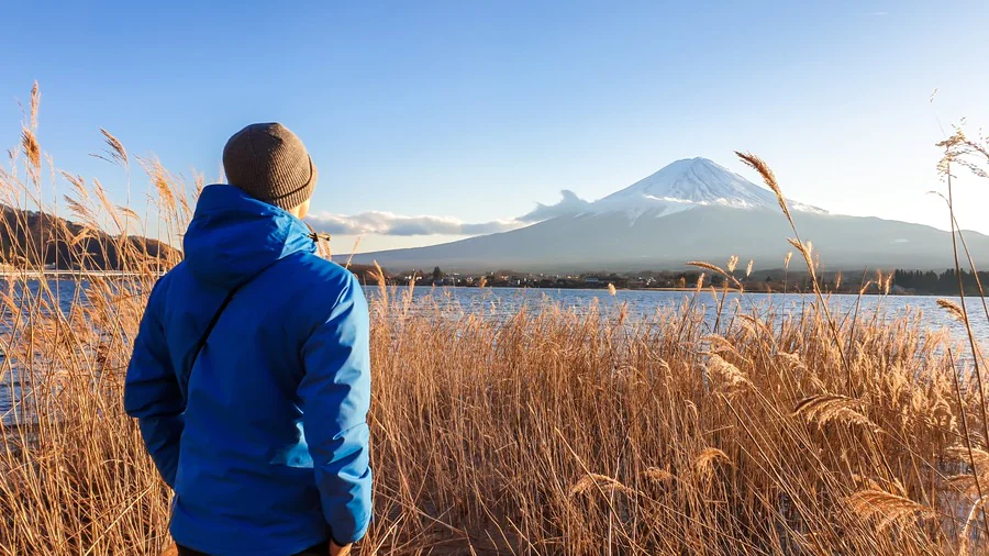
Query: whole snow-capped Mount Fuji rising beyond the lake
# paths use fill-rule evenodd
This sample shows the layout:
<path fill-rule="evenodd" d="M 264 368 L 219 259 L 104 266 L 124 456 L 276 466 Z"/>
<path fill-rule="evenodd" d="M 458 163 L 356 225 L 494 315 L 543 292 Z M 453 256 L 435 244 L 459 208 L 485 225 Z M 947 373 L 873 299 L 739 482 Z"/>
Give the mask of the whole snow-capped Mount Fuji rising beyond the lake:
<path fill-rule="evenodd" d="M 953 266 L 952 236 L 931 226 L 831 214 L 787 200 L 797 229 L 831 269 Z M 625 189 L 587 202 L 565 192 L 538 205 L 535 224 L 457 242 L 355 255 L 392 270 L 484 271 L 679 269 L 732 255 L 780 268 L 793 235 L 773 191 L 707 159 L 677 160 Z M 989 258 L 989 236 L 966 232 L 973 256 Z"/>

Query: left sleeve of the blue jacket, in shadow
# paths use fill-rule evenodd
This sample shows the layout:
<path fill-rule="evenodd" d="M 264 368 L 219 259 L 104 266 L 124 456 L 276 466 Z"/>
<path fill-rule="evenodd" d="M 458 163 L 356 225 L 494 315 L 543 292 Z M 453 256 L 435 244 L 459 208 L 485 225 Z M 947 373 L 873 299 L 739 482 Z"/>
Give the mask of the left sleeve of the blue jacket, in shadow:
<path fill-rule="evenodd" d="M 124 410 L 137 419 L 148 454 L 165 482 L 175 488 L 186 402 L 168 357 L 158 312 L 159 288 L 152 291 L 124 382 Z"/>

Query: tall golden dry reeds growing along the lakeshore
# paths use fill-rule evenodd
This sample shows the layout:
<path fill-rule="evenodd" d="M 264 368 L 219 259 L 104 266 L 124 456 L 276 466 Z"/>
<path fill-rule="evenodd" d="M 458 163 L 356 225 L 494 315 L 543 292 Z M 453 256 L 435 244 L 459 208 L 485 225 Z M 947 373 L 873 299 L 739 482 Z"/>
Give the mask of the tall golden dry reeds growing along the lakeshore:
<path fill-rule="evenodd" d="M 127 175 L 123 145 L 105 136 L 118 155 L 108 159 Z M 23 180 L 0 174 L 0 200 L 51 210 L 26 156 Z M 749 162 L 789 214 L 768 166 Z M 71 175 L 68 207 L 93 229 L 178 233 L 192 199 L 149 169 L 140 222 Z M 138 247 L 118 244 L 133 274 L 77 274 L 71 289 L 25 274 L 36 245 L 3 253 L 21 274 L 0 290 L 0 372 L 21 397 L 0 430 L 0 554 L 168 545 L 169 494 L 121 403 L 156 275 Z M 810 262 L 809 245 L 793 245 Z M 730 276 L 736 265 L 704 268 Z M 701 287 L 645 320 L 553 304 L 492 320 L 381 286 L 371 303 L 377 521 L 362 553 L 989 547 L 982 377 L 956 364 L 958 346 L 915 316 L 832 319 L 822 297 L 790 315 L 729 304 L 712 330 Z"/>

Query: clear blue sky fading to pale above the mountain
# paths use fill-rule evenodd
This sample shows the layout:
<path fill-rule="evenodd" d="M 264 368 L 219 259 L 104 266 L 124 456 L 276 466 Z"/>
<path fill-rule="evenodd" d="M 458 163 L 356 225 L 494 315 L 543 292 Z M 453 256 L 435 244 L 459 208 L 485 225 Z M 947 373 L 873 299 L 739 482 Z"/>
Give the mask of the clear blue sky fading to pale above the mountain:
<path fill-rule="evenodd" d="M 989 123 L 982 0 L 76 4 L 4 7 L 4 147 L 37 80 L 43 148 L 122 202 L 122 174 L 88 156 L 100 126 L 214 179 L 230 134 L 280 121 L 320 166 L 315 212 L 444 218 L 362 251 L 447 241 L 563 189 L 597 199 L 678 158 L 754 179 L 733 149 L 791 198 L 944 227 L 926 194 L 938 122 Z M 989 233 L 987 186 L 958 196 Z"/>

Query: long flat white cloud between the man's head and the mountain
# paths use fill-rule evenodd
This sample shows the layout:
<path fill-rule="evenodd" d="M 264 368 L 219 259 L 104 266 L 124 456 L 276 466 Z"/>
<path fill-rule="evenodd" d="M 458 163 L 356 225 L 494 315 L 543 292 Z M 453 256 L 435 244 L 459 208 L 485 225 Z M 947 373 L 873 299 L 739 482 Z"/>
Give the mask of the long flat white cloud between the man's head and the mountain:
<path fill-rule="evenodd" d="M 402 216 L 378 211 L 353 215 L 320 213 L 305 220 L 319 232 L 338 235 L 482 235 L 524 225 L 514 220 L 468 223 L 448 216 Z"/>

